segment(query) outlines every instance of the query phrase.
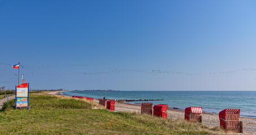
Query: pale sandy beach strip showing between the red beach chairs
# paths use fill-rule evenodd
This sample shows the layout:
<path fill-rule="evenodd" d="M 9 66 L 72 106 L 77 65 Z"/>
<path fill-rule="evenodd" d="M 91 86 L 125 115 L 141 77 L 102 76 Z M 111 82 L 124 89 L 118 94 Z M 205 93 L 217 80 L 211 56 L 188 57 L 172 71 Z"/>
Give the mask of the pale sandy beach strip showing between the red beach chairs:
<path fill-rule="evenodd" d="M 51 95 L 60 95 L 60 92 L 49 92 Z M 98 100 L 94 100 L 98 103 Z M 115 111 L 124 111 L 127 113 L 140 113 L 141 106 L 128 104 L 125 102 L 116 102 L 115 103 Z M 184 119 L 184 111 L 183 110 L 175 110 L 168 109 L 168 118 L 170 119 Z M 243 134 L 256 134 L 256 119 L 255 118 L 243 118 L 240 117 L 240 120 L 244 125 L 244 133 Z M 217 114 L 202 114 L 202 123 L 208 125 L 209 127 L 218 127 L 219 126 L 219 115 Z M 240 133 L 241 134 L 241 133 Z"/>

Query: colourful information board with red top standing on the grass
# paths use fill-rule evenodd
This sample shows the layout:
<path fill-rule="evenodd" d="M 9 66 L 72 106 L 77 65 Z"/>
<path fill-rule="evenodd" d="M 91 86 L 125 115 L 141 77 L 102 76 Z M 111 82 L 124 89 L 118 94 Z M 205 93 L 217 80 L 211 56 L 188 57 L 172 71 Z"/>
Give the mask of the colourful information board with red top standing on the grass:
<path fill-rule="evenodd" d="M 15 109 L 17 107 L 28 107 L 29 109 L 29 83 L 16 86 L 15 93 Z"/>

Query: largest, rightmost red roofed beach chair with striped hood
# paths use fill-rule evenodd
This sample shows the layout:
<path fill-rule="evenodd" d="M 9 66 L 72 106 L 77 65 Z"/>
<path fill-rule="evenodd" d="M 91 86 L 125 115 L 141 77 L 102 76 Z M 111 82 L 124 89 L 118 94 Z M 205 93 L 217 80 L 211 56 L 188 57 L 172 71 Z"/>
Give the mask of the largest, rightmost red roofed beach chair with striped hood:
<path fill-rule="evenodd" d="M 225 109 L 220 111 L 220 128 L 226 132 L 242 133 L 242 122 L 239 121 L 240 109 Z"/>

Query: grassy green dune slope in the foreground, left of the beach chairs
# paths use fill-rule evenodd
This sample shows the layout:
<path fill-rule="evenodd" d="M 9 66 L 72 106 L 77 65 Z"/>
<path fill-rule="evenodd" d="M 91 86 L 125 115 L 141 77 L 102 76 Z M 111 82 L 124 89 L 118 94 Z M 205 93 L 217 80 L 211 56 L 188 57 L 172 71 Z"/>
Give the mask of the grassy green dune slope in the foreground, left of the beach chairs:
<path fill-rule="evenodd" d="M 29 110 L 0 113 L 0 134 L 223 134 L 200 123 L 91 109 L 85 101 L 44 93 L 33 93 L 30 100 Z"/>

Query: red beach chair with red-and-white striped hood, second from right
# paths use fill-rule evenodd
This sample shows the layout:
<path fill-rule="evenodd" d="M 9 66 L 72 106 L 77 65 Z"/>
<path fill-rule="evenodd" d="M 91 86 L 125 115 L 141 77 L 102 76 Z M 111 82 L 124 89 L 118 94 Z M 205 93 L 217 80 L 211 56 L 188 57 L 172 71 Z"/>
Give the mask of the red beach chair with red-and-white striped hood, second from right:
<path fill-rule="evenodd" d="M 188 107 L 185 109 L 185 120 L 202 123 L 202 107 Z"/>

